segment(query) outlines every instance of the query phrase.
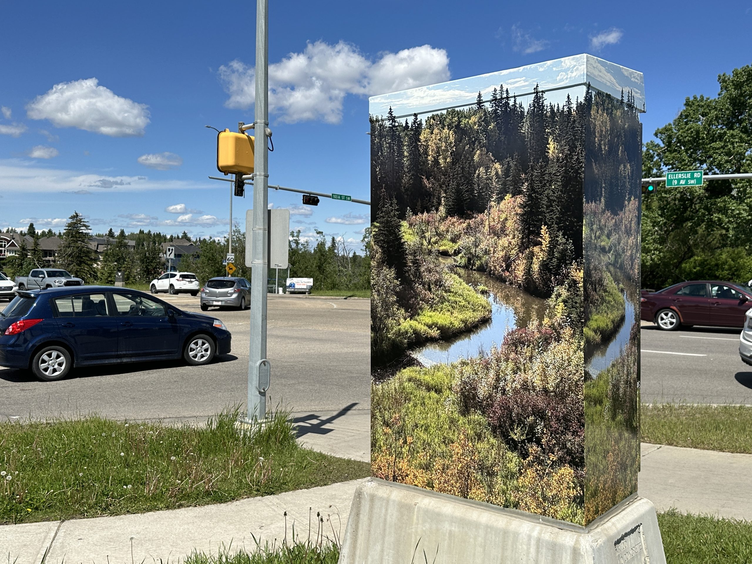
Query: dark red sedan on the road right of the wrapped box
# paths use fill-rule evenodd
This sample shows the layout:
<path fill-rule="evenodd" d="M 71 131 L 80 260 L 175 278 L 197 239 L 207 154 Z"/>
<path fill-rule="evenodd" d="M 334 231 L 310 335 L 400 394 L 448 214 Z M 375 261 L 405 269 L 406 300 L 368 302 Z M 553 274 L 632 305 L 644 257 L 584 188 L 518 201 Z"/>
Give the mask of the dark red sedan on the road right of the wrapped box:
<path fill-rule="evenodd" d="M 640 317 L 658 329 L 706 325 L 744 327 L 744 314 L 752 308 L 752 289 L 732 282 L 691 280 L 657 292 L 643 290 Z"/>

